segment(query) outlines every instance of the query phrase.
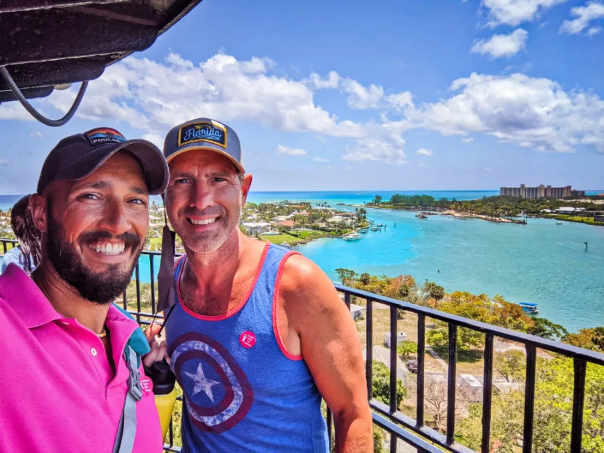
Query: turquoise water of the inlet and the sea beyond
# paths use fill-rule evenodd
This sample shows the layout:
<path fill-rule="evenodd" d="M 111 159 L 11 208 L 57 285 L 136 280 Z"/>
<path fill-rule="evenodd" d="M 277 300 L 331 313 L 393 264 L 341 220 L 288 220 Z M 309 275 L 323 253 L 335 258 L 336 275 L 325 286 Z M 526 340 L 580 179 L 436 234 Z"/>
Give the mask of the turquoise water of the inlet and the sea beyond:
<path fill-rule="evenodd" d="M 395 192 L 264 192 L 251 193 L 252 202 L 307 200 L 360 204 L 375 195 Z M 435 198 L 469 200 L 496 191 L 415 191 Z M 0 209 L 6 200 L 0 196 Z M 15 195 L 15 201 L 20 196 Z M 15 202 L 13 201 L 13 203 Z M 6 209 L 6 208 L 5 208 Z M 352 209 L 340 207 L 340 209 Z M 540 315 L 571 331 L 604 325 L 604 228 L 553 220 L 529 219 L 528 225 L 490 223 L 451 216 L 421 220 L 406 211 L 368 209 L 368 216 L 385 223 L 385 230 L 368 232 L 361 241 L 319 239 L 300 251 L 333 279 L 346 267 L 370 274 L 411 274 L 447 291 L 497 293 L 511 302 L 536 302 Z M 397 227 L 394 228 L 394 223 Z M 588 242 L 588 251 L 584 242 Z M 155 272 L 159 258 L 153 261 Z M 440 272 L 438 272 L 440 270 Z M 149 282 L 149 258 L 140 262 L 142 281 Z"/>

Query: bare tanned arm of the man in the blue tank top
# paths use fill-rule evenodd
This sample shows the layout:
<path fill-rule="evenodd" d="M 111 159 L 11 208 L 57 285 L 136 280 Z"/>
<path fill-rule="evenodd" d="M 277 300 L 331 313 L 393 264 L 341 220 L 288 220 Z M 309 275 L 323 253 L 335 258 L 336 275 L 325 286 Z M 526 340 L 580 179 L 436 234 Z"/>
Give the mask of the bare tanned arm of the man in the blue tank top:
<path fill-rule="evenodd" d="M 337 453 L 373 451 L 372 419 L 356 325 L 333 283 L 313 262 L 294 255 L 285 264 L 280 297 L 319 392 L 335 422 Z"/>

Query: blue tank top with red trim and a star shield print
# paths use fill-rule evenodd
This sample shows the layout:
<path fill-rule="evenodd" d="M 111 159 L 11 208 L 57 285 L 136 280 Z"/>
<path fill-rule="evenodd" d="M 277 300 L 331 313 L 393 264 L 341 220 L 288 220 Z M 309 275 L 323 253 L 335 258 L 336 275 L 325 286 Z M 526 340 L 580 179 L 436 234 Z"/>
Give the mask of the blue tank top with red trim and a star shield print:
<path fill-rule="evenodd" d="M 328 453 L 321 395 L 302 357 L 282 345 L 275 322 L 285 260 L 293 252 L 267 244 L 241 304 L 203 316 L 181 303 L 167 325 L 172 371 L 183 389 L 186 453 Z"/>

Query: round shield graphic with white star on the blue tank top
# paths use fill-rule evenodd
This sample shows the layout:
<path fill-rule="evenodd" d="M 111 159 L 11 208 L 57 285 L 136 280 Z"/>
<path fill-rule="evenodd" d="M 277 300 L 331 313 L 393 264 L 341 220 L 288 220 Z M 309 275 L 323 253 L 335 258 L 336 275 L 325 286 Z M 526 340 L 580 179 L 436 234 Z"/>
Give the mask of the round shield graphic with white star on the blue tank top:
<path fill-rule="evenodd" d="M 233 356 L 215 339 L 197 332 L 179 336 L 170 367 L 185 394 L 190 422 L 222 433 L 248 415 L 254 392 Z"/>

